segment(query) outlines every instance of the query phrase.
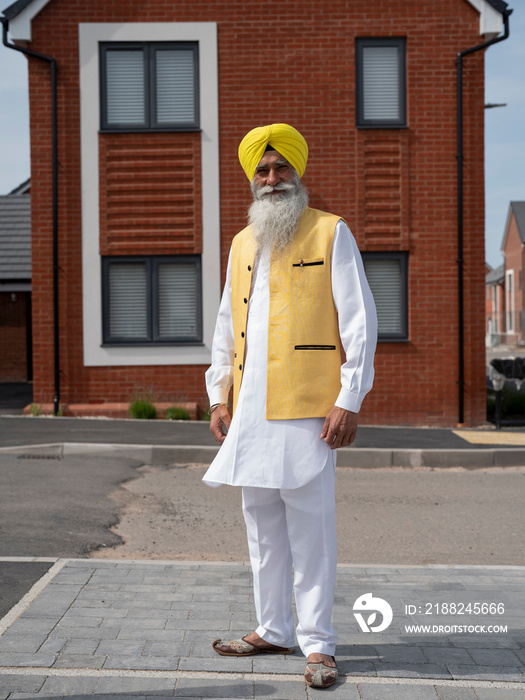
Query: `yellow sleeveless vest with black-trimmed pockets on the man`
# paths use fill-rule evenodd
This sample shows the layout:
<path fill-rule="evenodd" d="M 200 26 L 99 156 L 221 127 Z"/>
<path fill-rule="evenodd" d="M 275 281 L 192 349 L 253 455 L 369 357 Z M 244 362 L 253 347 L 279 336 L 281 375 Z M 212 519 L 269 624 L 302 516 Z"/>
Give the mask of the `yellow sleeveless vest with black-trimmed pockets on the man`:
<path fill-rule="evenodd" d="M 266 418 L 325 417 L 341 389 L 337 311 L 330 255 L 340 217 L 307 208 L 294 240 L 270 267 Z M 248 226 L 232 243 L 235 337 L 233 410 L 244 370 L 256 243 Z"/>

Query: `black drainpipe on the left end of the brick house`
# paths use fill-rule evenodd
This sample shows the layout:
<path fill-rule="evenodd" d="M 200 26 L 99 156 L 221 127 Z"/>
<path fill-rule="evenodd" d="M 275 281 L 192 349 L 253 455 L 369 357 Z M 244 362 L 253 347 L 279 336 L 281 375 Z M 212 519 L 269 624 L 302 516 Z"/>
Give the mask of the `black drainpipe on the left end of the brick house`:
<path fill-rule="evenodd" d="M 55 360 L 55 396 L 53 399 L 53 413 L 58 415 L 60 405 L 60 336 L 58 327 L 58 132 L 57 132 L 57 64 L 54 58 L 44 56 L 42 53 L 25 49 L 16 44 L 10 44 L 7 40 L 9 20 L 0 17 L 3 25 L 3 43 L 8 49 L 20 51 L 26 56 L 40 58 L 51 65 L 51 131 L 52 131 L 52 169 L 53 169 L 53 340 Z"/>

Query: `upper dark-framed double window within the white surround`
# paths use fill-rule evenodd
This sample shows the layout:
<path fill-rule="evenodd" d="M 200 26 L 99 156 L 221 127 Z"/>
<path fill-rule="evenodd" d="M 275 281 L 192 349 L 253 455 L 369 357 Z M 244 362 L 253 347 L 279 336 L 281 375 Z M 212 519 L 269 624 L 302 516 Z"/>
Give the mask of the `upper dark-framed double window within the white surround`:
<path fill-rule="evenodd" d="M 101 44 L 101 129 L 196 131 L 198 44 Z"/>

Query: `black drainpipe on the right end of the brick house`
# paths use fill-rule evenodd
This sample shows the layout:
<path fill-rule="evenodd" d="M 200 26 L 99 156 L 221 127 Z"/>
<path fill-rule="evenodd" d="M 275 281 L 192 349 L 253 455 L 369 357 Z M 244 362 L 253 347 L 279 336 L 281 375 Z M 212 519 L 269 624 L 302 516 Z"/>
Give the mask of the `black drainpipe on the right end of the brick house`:
<path fill-rule="evenodd" d="M 459 405 L 458 423 L 465 420 L 465 337 L 464 337 L 464 299 L 463 299 L 463 56 L 486 49 L 487 46 L 504 41 L 509 36 L 509 17 L 512 10 L 504 10 L 505 31 L 502 36 L 478 44 L 458 53 L 457 66 L 457 148 L 458 148 L 458 330 L 459 330 Z"/>

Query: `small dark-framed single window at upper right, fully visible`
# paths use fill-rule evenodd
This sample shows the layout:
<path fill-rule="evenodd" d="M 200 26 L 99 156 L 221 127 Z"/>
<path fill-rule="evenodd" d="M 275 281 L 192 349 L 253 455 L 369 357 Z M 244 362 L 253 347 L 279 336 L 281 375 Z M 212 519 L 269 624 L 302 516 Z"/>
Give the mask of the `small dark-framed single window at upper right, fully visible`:
<path fill-rule="evenodd" d="M 406 126 L 406 41 L 356 39 L 358 127 Z"/>

